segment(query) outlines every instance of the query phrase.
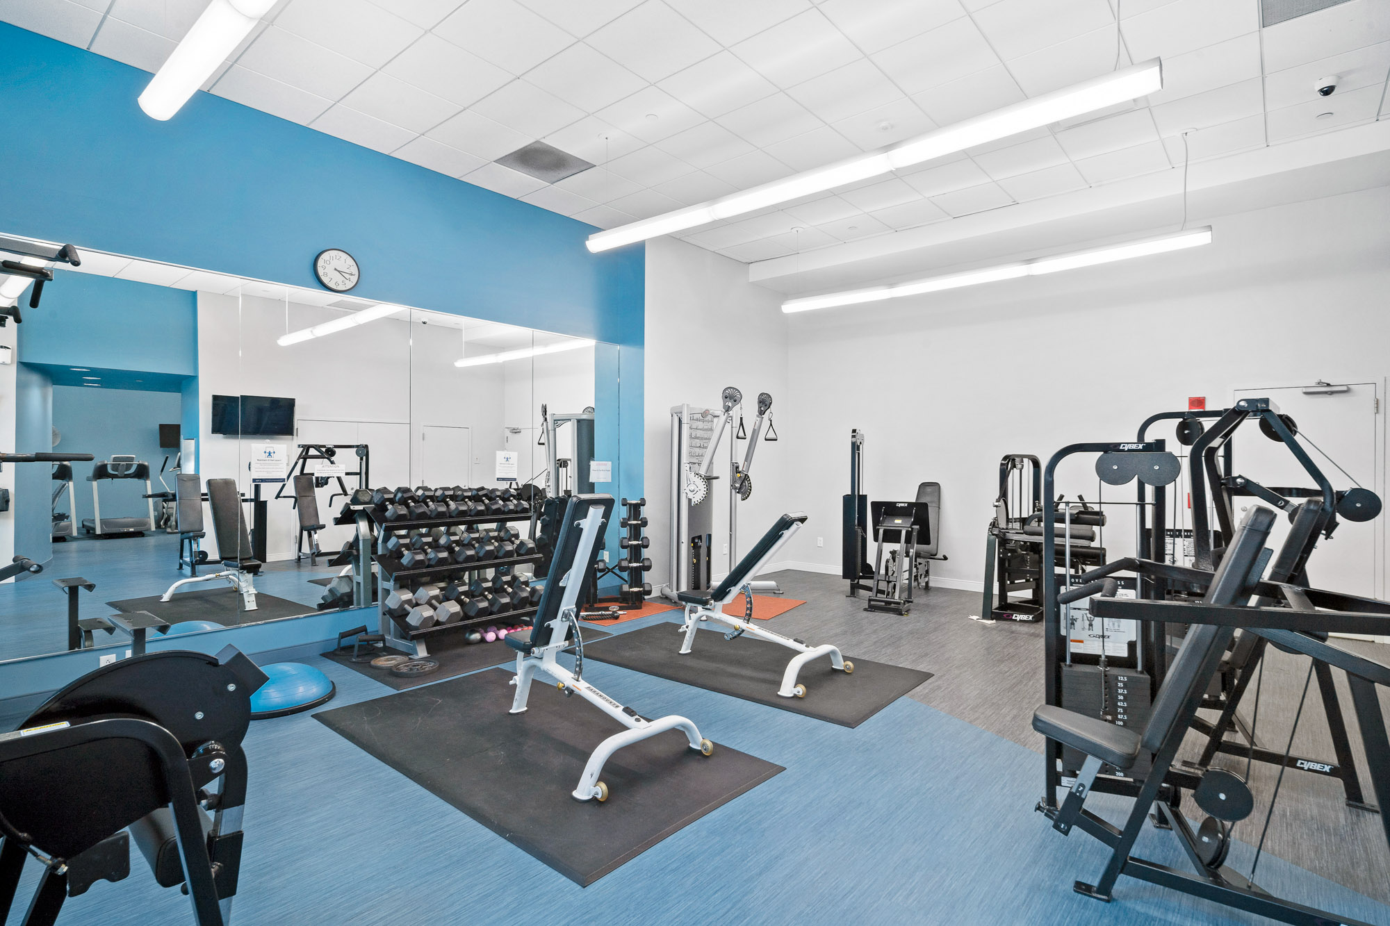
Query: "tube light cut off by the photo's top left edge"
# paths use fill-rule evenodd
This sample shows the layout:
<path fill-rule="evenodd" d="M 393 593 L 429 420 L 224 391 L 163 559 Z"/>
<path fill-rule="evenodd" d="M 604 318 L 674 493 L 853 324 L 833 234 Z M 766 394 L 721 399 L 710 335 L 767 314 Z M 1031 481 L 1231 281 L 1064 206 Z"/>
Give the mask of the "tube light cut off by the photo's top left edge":
<path fill-rule="evenodd" d="M 145 114 L 164 121 L 178 113 L 272 6 L 275 0 L 213 0 L 207 4 L 140 93 Z"/>

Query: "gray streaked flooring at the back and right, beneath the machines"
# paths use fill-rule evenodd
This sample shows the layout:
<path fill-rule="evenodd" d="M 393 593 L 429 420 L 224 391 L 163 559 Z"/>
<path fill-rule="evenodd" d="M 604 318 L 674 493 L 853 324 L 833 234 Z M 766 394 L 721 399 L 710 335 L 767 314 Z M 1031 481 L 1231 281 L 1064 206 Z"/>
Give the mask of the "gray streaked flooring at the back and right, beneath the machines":
<path fill-rule="evenodd" d="M 776 578 L 785 595 L 806 599 L 805 605 L 770 620 L 769 626 L 810 644 L 834 642 L 847 655 L 935 673 L 909 697 L 1038 752 L 1038 797 L 1042 795 L 1042 737 L 1031 729 L 1033 709 L 1042 702 L 1041 624 L 983 624 L 969 620 L 969 615 L 980 613 L 979 592 L 919 590 L 912 613 L 899 617 L 865 612 L 863 599 L 848 598 L 848 583 L 833 576 L 783 571 L 762 578 Z M 1380 662 L 1390 662 L 1390 647 L 1384 644 L 1350 640 L 1337 642 Z M 1272 647 L 1266 652 L 1255 734 L 1261 745 L 1282 754 L 1289 744 L 1309 660 Z M 1362 790 L 1368 801 L 1375 801 L 1346 676 L 1339 670 L 1333 670 L 1333 676 L 1337 679 Z M 1390 712 L 1390 692 L 1382 690 L 1380 699 Z M 1240 712 L 1247 723 L 1254 705 L 1252 684 Z M 1215 712 L 1208 716 L 1215 719 Z M 1204 741 L 1198 734 L 1188 734 L 1180 758 L 1195 759 Z M 1334 761 L 1316 679 L 1308 687 L 1293 752 Z M 942 759 L 940 766 L 922 769 L 920 773 L 949 774 L 949 756 Z M 1213 765 L 1241 774 L 1245 772 L 1245 759 L 1240 756 L 1218 755 Z M 1236 838 L 1251 845 L 1259 844 L 1277 777 L 1279 767 L 1275 765 L 1252 766 L 1250 786 L 1255 794 L 1255 812 L 1234 825 Z M 1380 802 L 1390 804 L 1390 795 L 1383 795 Z M 1184 809 L 1188 819 L 1204 816 L 1195 805 Z M 1020 806 L 1017 812 L 1031 813 L 1033 808 Z M 1038 826 L 1045 826 L 1041 816 Z M 1058 851 L 1066 850 L 1059 844 Z M 1264 851 L 1366 897 L 1390 902 L 1390 848 L 1386 845 L 1380 816 L 1348 808 L 1341 783 L 1336 779 L 1287 770 L 1269 820 Z"/>

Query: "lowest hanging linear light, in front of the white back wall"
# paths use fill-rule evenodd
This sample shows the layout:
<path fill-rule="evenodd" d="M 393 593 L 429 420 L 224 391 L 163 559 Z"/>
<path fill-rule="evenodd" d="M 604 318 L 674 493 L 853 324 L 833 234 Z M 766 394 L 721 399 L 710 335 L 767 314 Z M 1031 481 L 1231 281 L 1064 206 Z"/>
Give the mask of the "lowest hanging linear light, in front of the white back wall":
<path fill-rule="evenodd" d="M 884 299 L 899 299 L 902 296 L 920 296 L 927 292 L 942 292 L 945 289 L 960 289 L 962 286 L 976 286 L 979 284 L 999 282 L 1001 279 L 1017 279 L 1020 277 L 1041 277 L 1055 274 L 1062 270 L 1077 270 L 1079 267 L 1094 267 L 1109 264 L 1116 260 L 1130 257 L 1147 257 L 1148 254 L 1163 254 L 1170 250 L 1184 250 L 1200 247 L 1212 241 L 1211 227 L 1193 228 L 1190 231 L 1173 232 L 1169 235 L 1155 235 L 1141 238 L 1122 245 L 1106 245 L 1077 250 L 1069 254 L 1055 254 L 1052 257 L 1034 257 L 997 267 L 983 267 L 967 270 L 959 274 L 942 277 L 927 277 L 926 279 L 912 279 L 894 284 L 891 286 L 869 286 L 866 289 L 849 289 L 845 292 L 830 292 L 823 296 L 803 296 L 788 299 L 783 303 L 783 311 L 810 311 L 812 309 L 833 309 L 835 306 L 856 306 L 865 302 L 883 302 Z"/>

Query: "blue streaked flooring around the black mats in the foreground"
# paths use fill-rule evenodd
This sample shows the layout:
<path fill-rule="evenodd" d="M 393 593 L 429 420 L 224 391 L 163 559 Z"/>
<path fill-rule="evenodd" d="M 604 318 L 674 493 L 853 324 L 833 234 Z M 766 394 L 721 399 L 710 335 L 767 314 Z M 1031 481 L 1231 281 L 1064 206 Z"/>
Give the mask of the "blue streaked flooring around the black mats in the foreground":
<path fill-rule="evenodd" d="M 338 684 L 329 706 L 388 691 L 343 666 L 316 665 Z M 1120 879 L 1111 904 L 1074 894 L 1072 882 L 1093 880 L 1106 854 L 1033 812 L 1041 756 L 913 699 L 848 729 L 602 663 L 585 673 L 648 716 L 685 713 L 712 738 L 787 772 L 581 888 L 310 715 L 257 722 L 246 741 L 246 851 L 232 920 L 1266 922 L 1131 879 Z M 621 812 L 620 801 L 595 812 Z M 1126 805 L 1109 795 L 1094 801 L 1112 820 Z M 1169 833 L 1145 829 L 1138 852 L 1187 868 Z M 1232 851 L 1241 870 L 1250 856 L 1247 845 Z M 1390 908 L 1268 854 L 1258 880 L 1291 900 L 1390 923 Z M 156 887 L 136 858 L 128 880 L 70 900 L 60 923 L 189 920 L 186 898 Z"/>

